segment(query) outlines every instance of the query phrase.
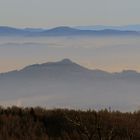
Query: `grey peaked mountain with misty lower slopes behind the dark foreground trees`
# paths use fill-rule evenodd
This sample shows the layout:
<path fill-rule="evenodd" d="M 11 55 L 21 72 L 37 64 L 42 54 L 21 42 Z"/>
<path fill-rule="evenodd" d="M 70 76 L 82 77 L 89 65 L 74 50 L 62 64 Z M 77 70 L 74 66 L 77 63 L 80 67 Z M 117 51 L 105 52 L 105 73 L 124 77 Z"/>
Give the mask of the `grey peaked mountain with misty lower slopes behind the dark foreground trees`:
<path fill-rule="evenodd" d="M 139 85 L 136 71 L 89 70 L 64 59 L 1 73 L 0 104 L 134 110 L 140 105 Z"/>

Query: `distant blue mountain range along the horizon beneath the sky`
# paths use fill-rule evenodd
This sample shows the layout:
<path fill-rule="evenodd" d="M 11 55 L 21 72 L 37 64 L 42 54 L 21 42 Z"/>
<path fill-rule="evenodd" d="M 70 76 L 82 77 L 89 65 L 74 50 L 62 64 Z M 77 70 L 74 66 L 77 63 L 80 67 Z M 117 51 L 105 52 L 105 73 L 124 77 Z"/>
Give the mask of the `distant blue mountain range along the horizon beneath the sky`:
<path fill-rule="evenodd" d="M 123 29 L 123 30 L 122 30 Z M 112 35 L 140 35 L 140 30 L 133 28 L 111 26 L 83 26 L 83 27 L 56 27 L 52 29 L 25 28 L 0 26 L 0 36 L 112 36 Z M 134 28 L 135 29 L 135 28 Z M 138 29 L 138 28 L 137 28 Z"/>

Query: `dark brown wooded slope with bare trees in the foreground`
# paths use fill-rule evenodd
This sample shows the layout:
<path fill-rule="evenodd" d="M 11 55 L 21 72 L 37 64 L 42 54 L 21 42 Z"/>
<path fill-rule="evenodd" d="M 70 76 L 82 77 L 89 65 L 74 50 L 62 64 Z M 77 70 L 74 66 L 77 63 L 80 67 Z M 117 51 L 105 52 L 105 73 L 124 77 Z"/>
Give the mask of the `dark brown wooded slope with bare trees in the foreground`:
<path fill-rule="evenodd" d="M 1 140 L 139 140 L 140 112 L 0 108 Z"/>

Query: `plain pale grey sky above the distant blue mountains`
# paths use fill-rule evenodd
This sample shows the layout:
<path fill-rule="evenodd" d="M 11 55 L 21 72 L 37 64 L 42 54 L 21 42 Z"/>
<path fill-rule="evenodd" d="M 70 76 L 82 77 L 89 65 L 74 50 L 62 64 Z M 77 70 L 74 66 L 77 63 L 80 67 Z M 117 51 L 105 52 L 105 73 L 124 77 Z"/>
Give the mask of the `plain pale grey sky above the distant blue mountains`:
<path fill-rule="evenodd" d="M 139 24 L 140 0 L 0 0 L 0 25 Z"/>

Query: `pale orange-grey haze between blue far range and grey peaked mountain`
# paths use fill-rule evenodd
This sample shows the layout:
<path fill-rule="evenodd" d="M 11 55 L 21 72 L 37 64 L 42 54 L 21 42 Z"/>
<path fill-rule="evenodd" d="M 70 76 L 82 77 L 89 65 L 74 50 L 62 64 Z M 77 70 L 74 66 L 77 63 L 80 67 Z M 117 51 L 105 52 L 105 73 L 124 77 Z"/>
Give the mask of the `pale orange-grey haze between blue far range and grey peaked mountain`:
<path fill-rule="evenodd" d="M 140 71 L 140 37 L 0 37 L 0 73 L 69 58 L 90 69 Z"/>

